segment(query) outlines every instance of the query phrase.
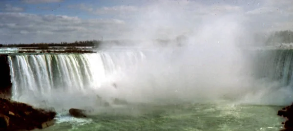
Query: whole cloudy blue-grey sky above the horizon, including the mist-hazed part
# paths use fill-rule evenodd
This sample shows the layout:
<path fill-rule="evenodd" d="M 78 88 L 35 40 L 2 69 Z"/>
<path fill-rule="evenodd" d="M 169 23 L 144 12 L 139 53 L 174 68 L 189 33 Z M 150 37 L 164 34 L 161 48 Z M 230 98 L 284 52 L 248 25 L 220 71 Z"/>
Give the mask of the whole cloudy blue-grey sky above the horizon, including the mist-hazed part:
<path fill-rule="evenodd" d="M 0 43 L 170 39 L 220 19 L 293 30 L 293 0 L 0 0 Z"/>

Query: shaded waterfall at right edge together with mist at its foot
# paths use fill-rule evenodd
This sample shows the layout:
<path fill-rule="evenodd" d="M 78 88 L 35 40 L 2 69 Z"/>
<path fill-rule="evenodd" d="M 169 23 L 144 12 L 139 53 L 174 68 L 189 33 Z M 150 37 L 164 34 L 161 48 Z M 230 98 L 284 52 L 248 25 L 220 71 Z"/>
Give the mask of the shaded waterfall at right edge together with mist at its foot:
<path fill-rule="evenodd" d="M 293 50 L 247 50 L 251 87 L 244 103 L 287 105 L 293 101 Z"/>

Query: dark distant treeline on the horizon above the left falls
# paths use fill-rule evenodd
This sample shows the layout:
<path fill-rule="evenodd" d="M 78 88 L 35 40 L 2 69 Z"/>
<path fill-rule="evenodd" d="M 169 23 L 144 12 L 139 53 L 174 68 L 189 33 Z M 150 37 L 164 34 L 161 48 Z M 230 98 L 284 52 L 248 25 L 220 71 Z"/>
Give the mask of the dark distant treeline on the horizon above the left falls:
<path fill-rule="evenodd" d="M 33 44 L 0 44 L 0 47 L 36 47 L 48 49 L 49 47 L 98 47 L 102 41 L 75 41 L 74 43 L 33 43 Z"/>

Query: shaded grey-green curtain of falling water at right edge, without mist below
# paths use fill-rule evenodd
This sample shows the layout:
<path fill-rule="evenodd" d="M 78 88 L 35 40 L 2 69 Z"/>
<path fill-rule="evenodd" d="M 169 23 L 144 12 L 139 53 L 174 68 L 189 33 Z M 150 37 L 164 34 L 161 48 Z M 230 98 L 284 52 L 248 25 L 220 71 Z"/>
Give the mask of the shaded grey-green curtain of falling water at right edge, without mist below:
<path fill-rule="evenodd" d="M 278 82 L 280 87 L 293 86 L 292 49 L 255 51 L 252 68 L 256 79 Z"/>

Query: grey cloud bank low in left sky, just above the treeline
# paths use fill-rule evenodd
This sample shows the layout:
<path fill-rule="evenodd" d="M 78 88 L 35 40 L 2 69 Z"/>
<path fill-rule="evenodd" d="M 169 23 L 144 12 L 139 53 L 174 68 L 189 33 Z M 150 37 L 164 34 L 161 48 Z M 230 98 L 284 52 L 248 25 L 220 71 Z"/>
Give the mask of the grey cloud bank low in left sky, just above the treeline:
<path fill-rule="evenodd" d="M 119 37 L 125 22 L 117 19 L 0 12 L 0 43 L 73 42 Z"/>

